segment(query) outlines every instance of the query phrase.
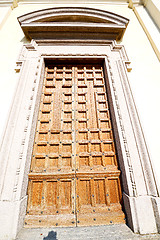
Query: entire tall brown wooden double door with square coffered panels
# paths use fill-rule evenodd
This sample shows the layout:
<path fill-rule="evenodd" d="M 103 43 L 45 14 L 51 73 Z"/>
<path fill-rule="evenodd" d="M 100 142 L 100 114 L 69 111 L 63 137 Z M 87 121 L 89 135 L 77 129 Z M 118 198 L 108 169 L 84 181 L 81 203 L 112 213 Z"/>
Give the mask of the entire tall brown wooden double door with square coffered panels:
<path fill-rule="evenodd" d="M 101 65 L 45 69 L 26 227 L 124 222 Z"/>

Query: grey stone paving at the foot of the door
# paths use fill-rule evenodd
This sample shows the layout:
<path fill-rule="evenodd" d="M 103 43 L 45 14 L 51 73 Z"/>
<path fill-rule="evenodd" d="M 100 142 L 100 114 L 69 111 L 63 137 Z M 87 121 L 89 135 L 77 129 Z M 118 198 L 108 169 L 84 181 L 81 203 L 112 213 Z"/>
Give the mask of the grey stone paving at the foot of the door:
<path fill-rule="evenodd" d="M 134 234 L 125 224 L 77 227 L 22 229 L 16 240 L 160 240 L 159 234 Z"/>

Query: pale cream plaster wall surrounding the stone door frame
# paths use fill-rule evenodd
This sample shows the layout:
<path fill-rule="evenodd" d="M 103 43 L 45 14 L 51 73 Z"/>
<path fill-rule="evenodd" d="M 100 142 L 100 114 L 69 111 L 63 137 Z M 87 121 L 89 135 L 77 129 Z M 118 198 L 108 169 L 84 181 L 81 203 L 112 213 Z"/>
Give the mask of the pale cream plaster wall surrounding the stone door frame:
<path fill-rule="evenodd" d="M 11 11 L 0 33 L 1 139 L 3 139 L 4 128 L 11 108 L 14 92 L 18 84 L 19 73 L 15 73 L 14 68 L 21 47 L 23 43 L 27 42 L 17 21 L 17 17 L 39 9 L 62 6 L 98 8 L 117 13 L 130 19 L 130 23 L 121 44 L 125 46 L 132 63 L 132 71 L 128 73 L 128 76 L 151 159 L 160 183 L 160 111 L 158 110 L 160 102 L 160 64 L 134 12 L 128 8 L 128 5 L 125 3 L 116 5 L 115 3 L 96 4 L 95 2 L 90 4 L 87 2 L 82 4 L 73 4 L 73 2 L 68 4 L 23 4 L 21 2 L 17 8 Z M 2 8 L 0 7 L 0 13 L 1 12 Z"/>

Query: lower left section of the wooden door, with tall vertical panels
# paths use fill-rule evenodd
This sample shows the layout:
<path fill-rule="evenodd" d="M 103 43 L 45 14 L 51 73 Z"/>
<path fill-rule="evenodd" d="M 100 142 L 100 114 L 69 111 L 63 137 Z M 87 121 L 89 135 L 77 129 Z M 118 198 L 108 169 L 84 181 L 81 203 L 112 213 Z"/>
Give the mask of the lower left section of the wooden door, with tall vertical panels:
<path fill-rule="evenodd" d="M 41 176 L 43 180 L 30 180 L 25 227 L 74 226 L 75 177 Z M 65 176 L 67 177 L 67 176 Z M 59 217 L 61 216 L 61 217 Z"/>

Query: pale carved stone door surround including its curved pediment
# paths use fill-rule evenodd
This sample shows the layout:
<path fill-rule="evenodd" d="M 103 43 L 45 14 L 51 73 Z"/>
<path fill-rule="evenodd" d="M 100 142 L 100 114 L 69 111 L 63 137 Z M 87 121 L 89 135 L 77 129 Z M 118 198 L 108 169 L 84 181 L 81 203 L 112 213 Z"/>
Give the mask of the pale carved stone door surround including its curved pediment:
<path fill-rule="evenodd" d="M 127 222 L 134 232 L 157 232 L 158 187 L 129 86 L 129 60 L 116 43 L 128 19 L 98 9 L 66 7 L 32 12 L 18 21 L 31 43 L 24 44 L 17 61 L 19 83 L 2 144 L 1 236 L 15 237 L 24 224 L 46 60 L 103 62 Z"/>

